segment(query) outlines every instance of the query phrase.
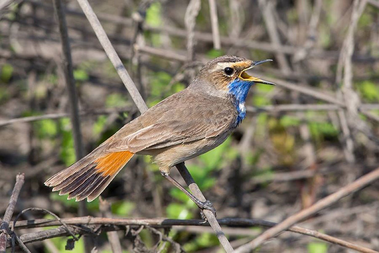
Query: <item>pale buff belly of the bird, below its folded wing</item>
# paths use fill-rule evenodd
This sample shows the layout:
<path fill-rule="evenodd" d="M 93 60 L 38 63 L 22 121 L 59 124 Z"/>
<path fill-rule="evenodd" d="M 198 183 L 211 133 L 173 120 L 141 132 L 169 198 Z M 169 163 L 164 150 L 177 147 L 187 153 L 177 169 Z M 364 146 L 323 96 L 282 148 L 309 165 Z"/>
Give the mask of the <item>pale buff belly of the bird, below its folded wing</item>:
<path fill-rule="evenodd" d="M 159 165 L 159 170 L 169 172 L 171 167 L 175 164 L 184 162 L 216 148 L 226 140 L 230 132 L 231 131 L 227 131 L 217 137 L 204 138 L 198 141 L 174 145 L 169 148 L 146 150 L 138 153 L 154 156 L 154 162 Z"/>

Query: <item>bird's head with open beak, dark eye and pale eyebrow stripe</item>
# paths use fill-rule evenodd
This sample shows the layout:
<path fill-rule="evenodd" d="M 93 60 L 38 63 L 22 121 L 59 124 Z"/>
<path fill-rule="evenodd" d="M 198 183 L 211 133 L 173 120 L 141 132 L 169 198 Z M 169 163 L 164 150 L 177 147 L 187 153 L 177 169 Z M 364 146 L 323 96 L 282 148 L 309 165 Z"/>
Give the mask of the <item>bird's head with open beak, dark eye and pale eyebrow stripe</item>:
<path fill-rule="evenodd" d="M 225 91 L 226 93 L 233 93 L 241 88 L 248 91 L 248 88 L 254 83 L 275 85 L 246 73 L 247 70 L 268 61 L 272 60 L 252 61 L 233 55 L 217 57 L 205 64 L 197 74 L 195 83 L 196 86 L 211 86 L 206 87 L 208 90 L 211 88 L 211 90 Z"/>

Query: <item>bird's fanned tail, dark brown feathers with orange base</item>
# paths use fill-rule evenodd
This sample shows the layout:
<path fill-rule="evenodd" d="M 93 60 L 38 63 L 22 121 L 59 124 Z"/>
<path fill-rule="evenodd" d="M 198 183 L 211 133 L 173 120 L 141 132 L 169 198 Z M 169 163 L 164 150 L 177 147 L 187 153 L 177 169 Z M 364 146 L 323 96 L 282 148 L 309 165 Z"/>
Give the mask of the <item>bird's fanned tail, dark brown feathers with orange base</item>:
<path fill-rule="evenodd" d="M 49 178 L 45 185 L 53 187 L 53 191 L 59 190 L 59 195 L 68 193 L 68 200 L 94 200 L 134 155 L 130 151 L 105 153 L 103 150 L 104 148 L 99 146 L 70 167 Z"/>

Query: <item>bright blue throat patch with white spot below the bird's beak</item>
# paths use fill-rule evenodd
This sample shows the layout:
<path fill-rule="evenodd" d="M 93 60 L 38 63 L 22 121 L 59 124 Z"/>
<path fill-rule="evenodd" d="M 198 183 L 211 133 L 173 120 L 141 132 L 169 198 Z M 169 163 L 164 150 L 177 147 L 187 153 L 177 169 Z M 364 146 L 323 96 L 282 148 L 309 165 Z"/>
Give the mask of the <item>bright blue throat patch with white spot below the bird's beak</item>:
<path fill-rule="evenodd" d="M 245 100 L 252 84 L 253 82 L 251 81 L 244 81 L 238 78 L 228 85 L 229 93 L 233 94 L 235 98 L 235 106 L 238 112 L 236 126 L 246 117 Z"/>

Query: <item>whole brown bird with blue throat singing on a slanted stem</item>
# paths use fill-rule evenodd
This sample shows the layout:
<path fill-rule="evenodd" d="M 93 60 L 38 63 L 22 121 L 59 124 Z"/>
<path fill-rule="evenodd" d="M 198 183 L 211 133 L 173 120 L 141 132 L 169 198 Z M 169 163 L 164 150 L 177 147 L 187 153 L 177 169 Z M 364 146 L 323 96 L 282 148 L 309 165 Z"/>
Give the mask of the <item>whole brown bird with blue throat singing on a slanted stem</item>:
<path fill-rule="evenodd" d="M 45 182 L 68 199 L 92 201 L 135 154 L 153 156 L 161 174 L 186 193 L 200 210 L 215 212 L 169 175 L 170 168 L 204 154 L 226 140 L 246 116 L 245 100 L 254 83 L 248 69 L 271 60 L 221 56 L 209 61 L 188 88 L 125 124 L 94 151 Z"/>

